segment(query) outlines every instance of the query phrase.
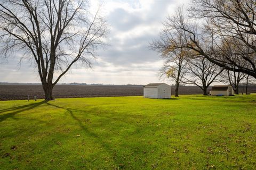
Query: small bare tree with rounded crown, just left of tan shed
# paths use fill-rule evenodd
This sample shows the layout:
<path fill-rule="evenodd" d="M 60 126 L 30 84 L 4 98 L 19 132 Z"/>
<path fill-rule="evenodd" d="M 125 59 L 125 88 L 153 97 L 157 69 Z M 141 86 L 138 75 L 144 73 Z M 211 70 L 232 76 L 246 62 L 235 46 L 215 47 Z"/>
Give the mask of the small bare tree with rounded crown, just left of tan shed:
<path fill-rule="evenodd" d="M 185 83 L 194 84 L 203 90 L 203 95 L 207 95 L 207 88 L 213 82 L 221 82 L 219 75 L 224 69 L 208 61 L 205 57 L 189 58 L 186 66 L 187 76 Z"/>

